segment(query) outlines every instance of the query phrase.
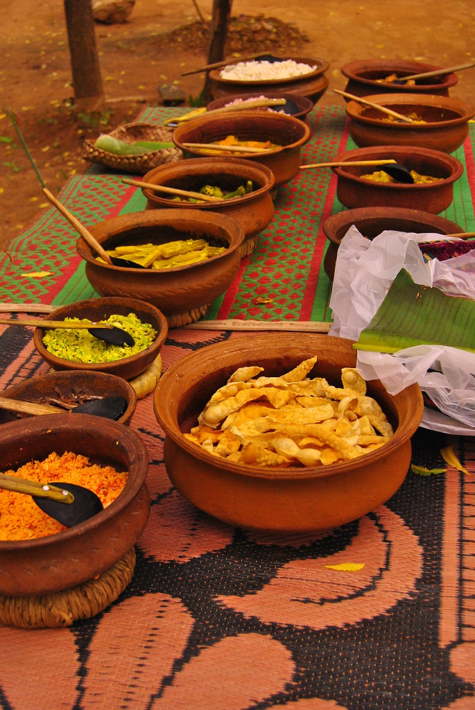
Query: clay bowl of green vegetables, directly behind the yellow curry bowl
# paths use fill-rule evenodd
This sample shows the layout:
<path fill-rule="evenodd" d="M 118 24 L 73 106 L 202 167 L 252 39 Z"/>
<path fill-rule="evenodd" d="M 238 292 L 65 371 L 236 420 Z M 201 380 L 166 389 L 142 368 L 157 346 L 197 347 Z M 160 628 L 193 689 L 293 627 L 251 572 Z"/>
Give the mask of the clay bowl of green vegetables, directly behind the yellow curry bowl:
<path fill-rule="evenodd" d="M 251 180 L 253 191 L 249 195 L 199 204 L 186 202 L 186 200 L 175 201 L 171 199 L 173 195 L 142 188 L 143 195 L 147 198 L 146 209 L 157 207 L 199 209 L 200 212 L 216 212 L 235 219 L 244 229 L 245 234 L 245 239 L 239 247 L 241 256 L 248 256 L 255 249 L 259 232 L 266 229 L 273 218 L 274 203 L 271 194 L 274 175 L 266 165 L 253 163 L 251 160 L 241 158 L 178 160 L 175 163 L 153 168 L 143 180 L 153 185 L 178 187 L 180 190 L 192 192 L 200 192 L 204 185 L 217 185 L 222 190 L 233 192 L 240 185 L 246 185 L 247 180 Z"/>

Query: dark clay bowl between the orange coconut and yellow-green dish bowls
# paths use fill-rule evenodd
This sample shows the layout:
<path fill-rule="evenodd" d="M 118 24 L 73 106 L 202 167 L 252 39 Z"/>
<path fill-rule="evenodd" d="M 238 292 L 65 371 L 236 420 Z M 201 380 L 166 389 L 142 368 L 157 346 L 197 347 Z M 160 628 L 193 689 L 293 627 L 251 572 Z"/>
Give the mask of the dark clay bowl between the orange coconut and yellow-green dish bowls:
<path fill-rule="evenodd" d="M 130 424 L 137 404 L 137 395 L 133 387 L 124 378 L 105 372 L 50 371 L 40 377 L 21 380 L 7 387 L 0 395 L 34 404 L 53 404 L 50 401 L 53 399 L 72 405 L 81 404 L 83 401 L 87 401 L 87 398 L 119 395 L 124 397 L 127 407 L 117 421 L 125 425 Z M 55 405 L 53 404 L 53 406 Z M 67 411 L 58 405 L 58 414 L 66 414 Z M 0 424 L 12 421 L 18 421 L 18 415 L 9 410 L 0 409 Z"/>

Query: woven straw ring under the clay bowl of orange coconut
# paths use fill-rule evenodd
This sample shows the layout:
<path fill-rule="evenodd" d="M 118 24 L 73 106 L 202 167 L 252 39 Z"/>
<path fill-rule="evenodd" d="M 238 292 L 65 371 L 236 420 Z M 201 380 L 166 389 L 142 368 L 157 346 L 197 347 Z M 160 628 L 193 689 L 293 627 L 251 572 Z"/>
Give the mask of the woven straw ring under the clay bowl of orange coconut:
<path fill-rule="evenodd" d="M 52 594 L 0 595 L 0 623 L 17 628 L 58 628 L 95 616 L 117 599 L 132 579 L 135 547 L 97 579 Z"/>

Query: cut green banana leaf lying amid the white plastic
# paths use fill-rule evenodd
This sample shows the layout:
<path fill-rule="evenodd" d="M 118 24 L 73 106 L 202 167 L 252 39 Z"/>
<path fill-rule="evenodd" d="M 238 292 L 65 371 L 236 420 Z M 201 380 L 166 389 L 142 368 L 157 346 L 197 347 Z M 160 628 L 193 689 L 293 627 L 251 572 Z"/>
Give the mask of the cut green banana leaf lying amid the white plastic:
<path fill-rule="evenodd" d="M 395 353 L 425 344 L 475 352 L 475 301 L 417 285 L 402 269 L 354 348 Z"/>

